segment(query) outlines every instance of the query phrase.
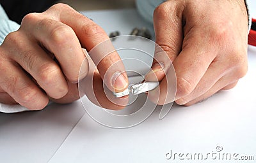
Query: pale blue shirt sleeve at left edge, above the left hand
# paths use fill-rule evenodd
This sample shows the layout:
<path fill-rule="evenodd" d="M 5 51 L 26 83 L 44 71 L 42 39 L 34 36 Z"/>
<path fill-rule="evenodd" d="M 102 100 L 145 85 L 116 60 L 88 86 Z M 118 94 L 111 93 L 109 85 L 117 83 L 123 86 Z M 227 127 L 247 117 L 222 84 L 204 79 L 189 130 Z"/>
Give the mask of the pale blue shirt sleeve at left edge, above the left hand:
<path fill-rule="evenodd" d="M 10 32 L 17 31 L 20 25 L 10 20 L 0 4 L 0 45 Z"/>

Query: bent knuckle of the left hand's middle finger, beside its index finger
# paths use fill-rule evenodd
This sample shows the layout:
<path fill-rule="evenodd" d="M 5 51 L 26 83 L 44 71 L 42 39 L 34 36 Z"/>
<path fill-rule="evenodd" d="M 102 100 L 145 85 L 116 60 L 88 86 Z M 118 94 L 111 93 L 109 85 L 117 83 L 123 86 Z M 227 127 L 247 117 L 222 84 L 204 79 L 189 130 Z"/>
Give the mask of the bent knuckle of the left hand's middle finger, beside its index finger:
<path fill-rule="evenodd" d="M 51 31 L 51 39 L 58 46 L 65 46 L 74 38 L 74 31 L 67 25 L 60 25 Z"/>

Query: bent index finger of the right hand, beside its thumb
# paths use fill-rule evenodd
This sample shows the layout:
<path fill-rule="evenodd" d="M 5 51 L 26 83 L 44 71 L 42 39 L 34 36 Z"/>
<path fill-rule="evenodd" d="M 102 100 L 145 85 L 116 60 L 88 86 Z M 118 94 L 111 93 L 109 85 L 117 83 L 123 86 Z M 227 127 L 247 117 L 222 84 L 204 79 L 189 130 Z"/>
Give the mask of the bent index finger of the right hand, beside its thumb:
<path fill-rule="evenodd" d="M 211 46 L 205 44 L 207 42 Z M 176 99 L 188 96 L 198 85 L 211 62 L 220 53 L 214 44 L 200 27 L 194 27 L 185 36 L 182 51 L 173 62 L 177 75 Z"/>

